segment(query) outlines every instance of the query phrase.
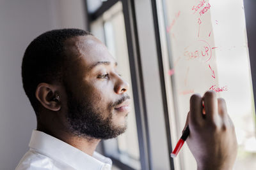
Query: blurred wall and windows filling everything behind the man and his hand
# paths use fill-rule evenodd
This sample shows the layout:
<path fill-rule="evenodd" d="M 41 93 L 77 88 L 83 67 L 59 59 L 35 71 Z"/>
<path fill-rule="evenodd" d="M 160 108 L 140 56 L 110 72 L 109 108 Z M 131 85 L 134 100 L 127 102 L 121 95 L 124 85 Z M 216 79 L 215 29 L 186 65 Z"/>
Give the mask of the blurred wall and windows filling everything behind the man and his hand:
<path fill-rule="evenodd" d="M 36 128 L 22 88 L 24 51 L 61 28 L 91 31 L 131 85 L 127 131 L 97 148 L 113 169 L 196 169 L 186 145 L 176 159 L 170 153 L 189 97 L 209 89 L 226 99 L 236 127 L 234 169 L 256 169 L 255 7 L 253 0 L 0 0 L 0 170 L 15 169 Z"/>

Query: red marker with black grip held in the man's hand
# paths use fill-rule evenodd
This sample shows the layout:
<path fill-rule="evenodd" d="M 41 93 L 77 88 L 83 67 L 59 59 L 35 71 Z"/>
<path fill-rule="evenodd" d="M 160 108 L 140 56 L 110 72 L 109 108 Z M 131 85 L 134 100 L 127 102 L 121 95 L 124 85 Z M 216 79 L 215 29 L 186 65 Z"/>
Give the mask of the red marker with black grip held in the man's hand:
<path fill-rule="evenodd" d="M 202 113 L 203 113 L 203 116 L 205 116 L 204 101 L 202 101 L 202 106 L 203 106 Z M 171 157 L 172 158 L 177 157 L 178 153 L 180 152 L 181 147 L 185 143 L 185 141 L 188 138 L 188 136 L 189 136 L 189 127 L 187 126 L 185 131 L 183 132 L 181 138 L 179 139 L 177 145 L 175 146 L 173 152 L 171 153 Z"/>

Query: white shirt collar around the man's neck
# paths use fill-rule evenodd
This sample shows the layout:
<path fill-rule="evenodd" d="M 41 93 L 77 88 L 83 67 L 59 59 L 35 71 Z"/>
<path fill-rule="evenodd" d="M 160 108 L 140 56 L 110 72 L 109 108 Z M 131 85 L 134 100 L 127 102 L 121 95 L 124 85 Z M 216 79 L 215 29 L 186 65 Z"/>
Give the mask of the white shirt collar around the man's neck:
<path fill-rule="evenodd" d="M 74 167 L 74 169 L 84 169 L 84 167 L 102 169 L 102 167 L 112 166 L 111 159 L 97 152 L 94 152 L 93 157 L 91 157 L 60 139 L 36 130 L 32 132 L 29 147 L 52 159 L 65 162 L 69 166 Z"/>

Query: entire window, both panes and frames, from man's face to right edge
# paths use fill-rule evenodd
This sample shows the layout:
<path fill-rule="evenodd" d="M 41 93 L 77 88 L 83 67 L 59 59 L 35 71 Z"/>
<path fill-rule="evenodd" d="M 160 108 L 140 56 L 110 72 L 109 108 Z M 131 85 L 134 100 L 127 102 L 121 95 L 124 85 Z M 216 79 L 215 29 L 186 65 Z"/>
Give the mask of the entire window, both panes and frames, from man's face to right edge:
<path fill-rule="evenodd" d="M 104 141 L 120 169 L 196 169 L 181 136 L 193 93 L 214 90 L 237 132 L 234 169 L 256 162 L 255 106 L 243 0 L 88 0 L 90 28 L 131 85 L 128 129 Z M 255 80 L 253 80 L 253 83 Z"/>

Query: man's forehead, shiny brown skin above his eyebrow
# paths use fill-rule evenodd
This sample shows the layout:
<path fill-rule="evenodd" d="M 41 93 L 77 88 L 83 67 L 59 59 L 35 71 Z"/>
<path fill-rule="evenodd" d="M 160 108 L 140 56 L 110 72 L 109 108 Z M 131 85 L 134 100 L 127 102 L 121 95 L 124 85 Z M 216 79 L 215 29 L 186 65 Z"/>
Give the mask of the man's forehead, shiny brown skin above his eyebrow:
<path fill-rule="evenodd" d="M 65 52 L 87 69 L 97 62 L 115 63 L 108 48 L 94 36 L 77 36 L 65 41 Z"/>

